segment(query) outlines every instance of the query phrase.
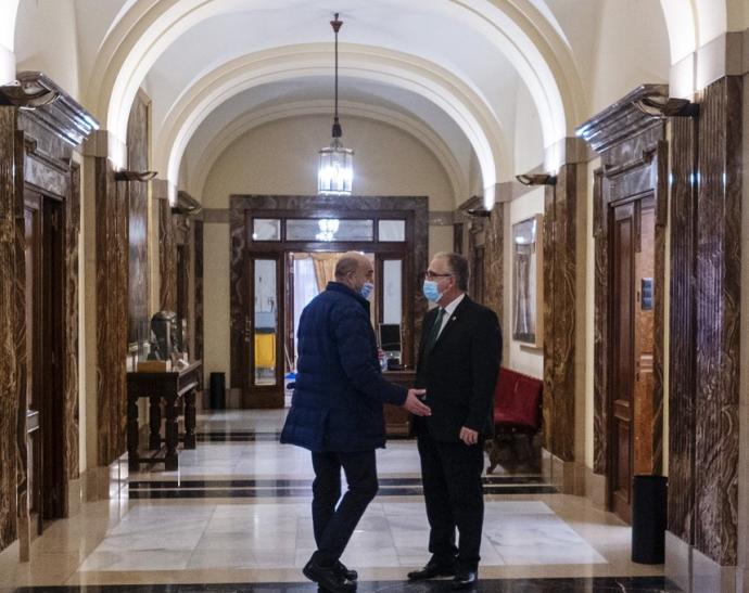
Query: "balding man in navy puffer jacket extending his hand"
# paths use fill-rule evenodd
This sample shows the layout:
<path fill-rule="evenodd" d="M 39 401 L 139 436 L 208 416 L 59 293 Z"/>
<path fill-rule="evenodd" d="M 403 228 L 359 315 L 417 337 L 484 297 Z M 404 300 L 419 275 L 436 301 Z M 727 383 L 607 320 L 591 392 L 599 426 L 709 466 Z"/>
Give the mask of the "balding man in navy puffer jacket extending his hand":
<path fill-rule="evenodd" d="M 281 442 L 312 451 L 313 525 L 317 551 L 304 575 L 334 593 L 356 590 L 356 571 L 340 560 L 367 505 L 377 494 L 374 450 L 385 444 L 383 403 L 417 415 L 430 410 L 409 389 L 382 378 L 369 320 L 373 268 L 363 254 L 343 254 L 335 282 L 305 307 L 299 364 Z M 341 468 L 348 490 L 341 497 Z"/>

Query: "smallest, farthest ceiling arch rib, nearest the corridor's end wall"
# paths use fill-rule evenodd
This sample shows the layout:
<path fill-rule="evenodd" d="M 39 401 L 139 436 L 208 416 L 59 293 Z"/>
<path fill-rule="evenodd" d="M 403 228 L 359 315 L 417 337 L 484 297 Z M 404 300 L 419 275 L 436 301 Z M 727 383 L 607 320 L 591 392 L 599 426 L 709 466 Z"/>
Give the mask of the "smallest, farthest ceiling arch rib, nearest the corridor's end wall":
<path fill-rule="evenodd" d="M 442 165 L 450 181 L 456 205 L 458 199 L 468 197 L 467 171 L 461 169 L 458 160 L 442 138 L 423 121 L 395 109 L 351 101 L 340 102 L 339 112 L 343 116 L 361 117 L 388 124 L 409 133 L 421 142 Z M 233 119 L 214 136 L 208 144 L 200 150 L 194 159 L 198 168 L 188 182 L 188 191 L 192 195 L 202 196 L 208 173 L 216 160 L 224 151 L 245 133 L 271 121 L 303 115 L 329 116 L 330 101 L 304 101 L 285 105 L 271 105 Z"/>

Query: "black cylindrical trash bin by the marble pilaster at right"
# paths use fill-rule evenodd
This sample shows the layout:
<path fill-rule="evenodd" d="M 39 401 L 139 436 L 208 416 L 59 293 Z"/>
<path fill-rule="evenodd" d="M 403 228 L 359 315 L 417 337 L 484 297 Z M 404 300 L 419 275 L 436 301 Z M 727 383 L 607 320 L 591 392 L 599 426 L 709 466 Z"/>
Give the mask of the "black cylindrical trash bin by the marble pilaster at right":
<path fill-rule="evenodd" d="M 668 481 L 664 476 L 635 476 L 632 485 L 632 562 L 663 564 Z"/>

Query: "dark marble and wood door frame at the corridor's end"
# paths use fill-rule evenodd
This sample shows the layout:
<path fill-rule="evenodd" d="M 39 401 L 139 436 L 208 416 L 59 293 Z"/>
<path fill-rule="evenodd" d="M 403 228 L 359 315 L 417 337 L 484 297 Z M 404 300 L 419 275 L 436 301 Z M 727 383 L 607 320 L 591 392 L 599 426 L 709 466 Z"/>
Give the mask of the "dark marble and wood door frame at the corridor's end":
<path fill-rule="evenodd" d="M 346 252 L 360 249 L 385 256 L 391 253 L 395 257 L 405 254 L 404 279 L 414 285 L 404 287 L 406 297 L 404 304 L 404 344 L 408 345 L 404 351 L 404 362 L 414 364 L 416 361 L 416 336 L 421 331 L 421 321 L 427 311 L 427 301 L 420 291 L 416 291 L 415 276 L 424 270 L 428 257 L 429 241 L 429 198 L 426 196 L 268 196 L 268 195 L 232 195 L 230 198 L 231 227 L 231 273 L 230 273 L 230 307 L 231 307 L 231 388 L 239 389 L 241 407 L 250 407 L 252 396 L 245 392 L 245 377 L 243 361 L 246 356 L 246 293 L 245 263 L 246 255 L 257 257 L 262 254 L 279 252 Z M 252 241 L 252 219 L 256 218 L 366 218 L 374 220 L 374 241 L 372 242 L 291 242 L 281 236 L 278 242 Z M 406 247 L 401 244 L 377 241 L 379 219 L 405 219 Z M 282 260 L 285 265 L 285 260 Z M 282 323 L 284 320 L 281 319 Z M 284 331 L 282 328 L 281 331 Z M 285 331 L 284 331 L 285 333 Z M 282 347 L 285 336 L 278 340 L 277 347 Z M 404 348 L 404 350 L 406 350 Z M 282 356 L 282 350 L 281 350 Z M 282 358 L 279 359 L 282 361 Z M 282 385 L 278 405 L 283 405 Z"/>

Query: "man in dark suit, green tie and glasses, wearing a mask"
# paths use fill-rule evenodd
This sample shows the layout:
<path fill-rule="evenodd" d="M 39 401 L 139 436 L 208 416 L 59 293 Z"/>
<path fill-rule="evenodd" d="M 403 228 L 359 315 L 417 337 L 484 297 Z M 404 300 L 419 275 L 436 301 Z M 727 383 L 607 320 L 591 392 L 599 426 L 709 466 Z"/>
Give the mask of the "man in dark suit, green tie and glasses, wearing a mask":
<path fill-rule="evenodd" d="M 423 292 L 437 307 L 424 317 L 416 378 L 432 411 L 416 418 L 432 557 L 408 578 L 454 576 L 453 589 L 478 581 L 483 441 L 494 428 L 502 356 L 497 315 L 466 295 L 468 273 L 458 254 L 437 254 L 429 265 Z"/>

